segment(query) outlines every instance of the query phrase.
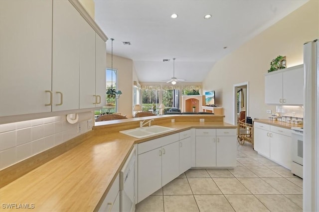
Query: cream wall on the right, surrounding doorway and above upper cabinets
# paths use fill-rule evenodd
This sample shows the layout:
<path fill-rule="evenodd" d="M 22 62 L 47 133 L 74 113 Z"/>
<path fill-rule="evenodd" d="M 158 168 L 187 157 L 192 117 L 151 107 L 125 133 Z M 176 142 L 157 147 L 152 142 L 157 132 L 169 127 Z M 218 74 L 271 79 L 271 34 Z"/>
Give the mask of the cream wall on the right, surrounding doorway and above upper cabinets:
<path fill-rule="evenodd" d="M 319 38 L 319 1 L 311 0 L 218 61 L 203 81 L 203 90 L 215 90 L 216 103 L 224 107 L 225 122 L 233 123 L 233 85 L 249 81 L 249 115 L 268 117 L 275 106 L 264 102 L 264 73 L 278 55 L 287 66 L 303 63 L 303 44 Z M 235 35 L 234 35 L 235 36 Z"/>

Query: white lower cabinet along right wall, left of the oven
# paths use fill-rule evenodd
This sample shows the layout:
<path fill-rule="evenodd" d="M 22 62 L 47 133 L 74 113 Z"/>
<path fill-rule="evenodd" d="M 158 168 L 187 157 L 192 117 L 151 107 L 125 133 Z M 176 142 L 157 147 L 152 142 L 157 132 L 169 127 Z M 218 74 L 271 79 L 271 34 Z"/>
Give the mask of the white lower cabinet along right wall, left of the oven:
<path fill-rule="evenodd" d="M 263 123 L 254 124 L 254 149 L 291 169 L 291 130 Z"/>

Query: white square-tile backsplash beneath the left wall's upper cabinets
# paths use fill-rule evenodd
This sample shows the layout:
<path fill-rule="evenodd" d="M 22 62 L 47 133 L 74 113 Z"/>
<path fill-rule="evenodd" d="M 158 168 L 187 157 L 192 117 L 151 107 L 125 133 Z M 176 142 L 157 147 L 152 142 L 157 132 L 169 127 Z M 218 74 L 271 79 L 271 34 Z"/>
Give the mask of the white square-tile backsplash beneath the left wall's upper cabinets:
<path fill-rule="evenodd" d="M 0 125 L 0 170 L 92 130 L 79 124 L 63 115 Z"/>

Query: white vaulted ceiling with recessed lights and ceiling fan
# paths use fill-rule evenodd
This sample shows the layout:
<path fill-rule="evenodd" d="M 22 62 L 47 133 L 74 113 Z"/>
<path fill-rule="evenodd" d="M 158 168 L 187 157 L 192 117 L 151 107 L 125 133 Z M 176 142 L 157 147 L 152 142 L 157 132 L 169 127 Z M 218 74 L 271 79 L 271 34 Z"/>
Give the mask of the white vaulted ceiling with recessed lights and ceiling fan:
<path fill-rule="evenodd" d="M 134 61 L 140 81 L 170 79 L 176 58 L 176 78 L 201 82 L 218 60 L 306 2 L 95 0 L 95 20 L 115 39 L 113 54 Z M 173 13 L 178 17 L 171 18 Z M 206 14 L 212 17 L 204 19 Z M 107 52 L 111 53 L 110 39 Z"/>

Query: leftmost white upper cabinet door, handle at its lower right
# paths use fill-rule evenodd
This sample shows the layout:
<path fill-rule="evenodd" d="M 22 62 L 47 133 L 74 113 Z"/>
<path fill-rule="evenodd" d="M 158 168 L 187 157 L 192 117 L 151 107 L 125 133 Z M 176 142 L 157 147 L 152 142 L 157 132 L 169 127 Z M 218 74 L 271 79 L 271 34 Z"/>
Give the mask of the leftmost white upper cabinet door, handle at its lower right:
<path fill-rule="evenodd" d="M 0 55 L 0 116 L 50 112 L 51 0 L 0 0 Z"/>

